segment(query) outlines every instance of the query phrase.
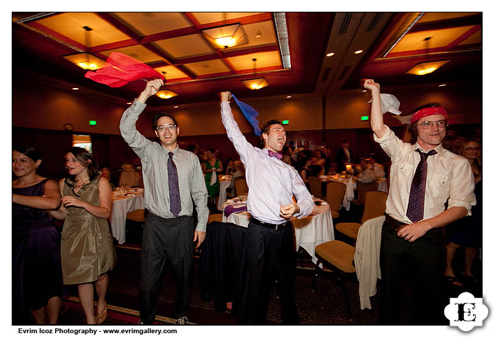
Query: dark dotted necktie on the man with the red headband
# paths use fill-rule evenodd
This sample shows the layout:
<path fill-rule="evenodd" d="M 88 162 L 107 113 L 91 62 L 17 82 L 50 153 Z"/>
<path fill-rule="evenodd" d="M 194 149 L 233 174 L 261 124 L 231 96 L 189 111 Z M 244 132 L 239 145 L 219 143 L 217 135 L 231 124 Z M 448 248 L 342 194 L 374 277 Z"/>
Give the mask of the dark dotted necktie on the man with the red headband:
<path fill-rule="evenodd" d="M 426 160 L 428 156 L 436 154 L 435 150 L 430 150 L 428 153 L 423 153 L 419 149 L 416 149 L 416 151 L 421 155 L 421 160 L 419 161 L 414 177 L 412 178 L 411 193 L 409 195 L 409 203 L 407 204 L 407 212 L 405 213 L 413 223 L 423 220 L 426 173 L 428 169 Z"/>

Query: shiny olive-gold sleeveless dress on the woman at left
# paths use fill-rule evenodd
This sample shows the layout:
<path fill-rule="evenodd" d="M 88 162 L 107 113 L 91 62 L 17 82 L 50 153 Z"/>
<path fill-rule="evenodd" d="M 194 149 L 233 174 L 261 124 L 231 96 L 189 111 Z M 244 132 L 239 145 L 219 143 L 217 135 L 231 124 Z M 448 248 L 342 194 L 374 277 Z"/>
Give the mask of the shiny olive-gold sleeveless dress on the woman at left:
<path fill-rule="evenodd" d="M 90 204 L 99 205 L 98 183 L 101 173 L 74 193 L 67 180 L 63 196 L 74 196 Z M 61 255 L 63 284 L 94 282 L 99 275 L 114 268 L 117 257 L 107 220 L 84 208 L 67 207 L 63 223 Z"/>

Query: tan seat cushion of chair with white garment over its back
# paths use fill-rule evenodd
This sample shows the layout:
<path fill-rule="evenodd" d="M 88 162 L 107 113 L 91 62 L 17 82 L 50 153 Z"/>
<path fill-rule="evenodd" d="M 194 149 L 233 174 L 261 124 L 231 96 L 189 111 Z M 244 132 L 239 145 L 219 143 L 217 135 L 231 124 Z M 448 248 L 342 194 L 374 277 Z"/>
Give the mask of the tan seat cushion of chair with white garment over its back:
<path fill-rule="evenodd" d="M 317 255 L 346 273 L 356 272 L 356 268 L 352 265 L 354 251 L 354 246 L 339 240 L 332 240 L 316 246 Z"/>

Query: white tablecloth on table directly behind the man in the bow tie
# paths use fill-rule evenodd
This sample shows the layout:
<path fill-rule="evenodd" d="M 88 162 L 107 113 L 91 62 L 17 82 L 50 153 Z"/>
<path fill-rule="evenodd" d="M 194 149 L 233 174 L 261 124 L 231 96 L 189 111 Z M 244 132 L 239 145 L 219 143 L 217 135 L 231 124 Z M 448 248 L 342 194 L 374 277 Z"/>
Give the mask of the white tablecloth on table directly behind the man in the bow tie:
<path fill-rule="evenodd" d="M 316 209 L 320 211 L 319 214 L 309 215 L 301 219 L 294 218 L 291 221 L 296 236 L 296 251 L 299 250 L 299 246 L 302 246 L 311 255 L 314 264 L 317 261 L 314 253 L 316 246 L 335 239 L 330 205 L 325 202 L 324 205 L 322 204 Z M 228 218 L 225 218 L 224 213 L 222 222 L 231 222 L 247 228 L 250 219 L 251 215 L 247 211 L 232 213 Z"/>

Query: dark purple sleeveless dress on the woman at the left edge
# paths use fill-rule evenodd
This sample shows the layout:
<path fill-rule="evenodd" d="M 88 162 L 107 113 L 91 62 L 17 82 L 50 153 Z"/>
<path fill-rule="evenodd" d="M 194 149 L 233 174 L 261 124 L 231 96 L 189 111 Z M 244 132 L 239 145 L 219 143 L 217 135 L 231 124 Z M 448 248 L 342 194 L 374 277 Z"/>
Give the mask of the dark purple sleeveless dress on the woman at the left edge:
<path fill-rule="evenodd" d="M 48 180 L 12 193 L 43 196 Z M 59 230 L 45 211 L 12 203 L 12 321 L 62 295 Z"/>

